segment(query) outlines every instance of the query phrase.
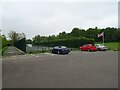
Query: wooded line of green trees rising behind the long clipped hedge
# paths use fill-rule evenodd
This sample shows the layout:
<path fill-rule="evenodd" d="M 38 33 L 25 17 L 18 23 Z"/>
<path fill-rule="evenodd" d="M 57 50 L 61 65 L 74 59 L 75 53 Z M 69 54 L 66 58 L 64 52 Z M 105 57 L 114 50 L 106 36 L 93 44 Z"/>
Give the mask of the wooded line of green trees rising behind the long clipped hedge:
<path fill-rule="evenodd" d="M 73 28 L 70 33 L 66 33 L 65 31 L 60 32 L 58 35 L 52 36 L 40 36 L 37 35 L 34 37 L 34 45 L 47 45 L 50 42 L 59 41 L 59 40 L 68 40 L 68 39 L 76 39 L 76 38 L 91 38 L 94 39 L 95 42 L 102 41 L 102 37 L 97 37 L 98 34 L 104 32 L 105 42 L 116 42 L 120 40 L 120 30 L 117 28 L 89 28 L 89 29 L 81 29 L 81 28 Z M 42 44 L 43 42 L 47 42 Z"/>

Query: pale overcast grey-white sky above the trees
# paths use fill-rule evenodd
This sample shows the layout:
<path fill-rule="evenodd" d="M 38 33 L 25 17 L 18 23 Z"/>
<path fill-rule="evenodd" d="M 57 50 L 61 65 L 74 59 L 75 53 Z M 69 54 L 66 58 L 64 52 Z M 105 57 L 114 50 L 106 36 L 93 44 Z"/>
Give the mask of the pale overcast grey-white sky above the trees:
<path fill-rule="evenodd" d="M 118 2 L 4 2 L 0 9 L 0 28 L 6 35 L 14 30 L 32 38 L 74 27 L 118 27 Z"/>

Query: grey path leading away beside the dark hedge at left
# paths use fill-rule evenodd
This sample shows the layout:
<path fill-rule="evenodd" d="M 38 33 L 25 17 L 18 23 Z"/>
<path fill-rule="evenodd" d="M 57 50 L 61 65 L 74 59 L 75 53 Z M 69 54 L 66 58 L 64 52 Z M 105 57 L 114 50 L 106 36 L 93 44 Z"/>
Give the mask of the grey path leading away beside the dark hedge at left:
<path fill-rule="evenodd" d="M 23 55 L 24 52 L 17 49 L 14 46 L 8 47 L 8 49 L 5 51 L 4 56 L 13 56 L 13 55 Z"/>

